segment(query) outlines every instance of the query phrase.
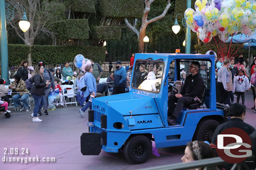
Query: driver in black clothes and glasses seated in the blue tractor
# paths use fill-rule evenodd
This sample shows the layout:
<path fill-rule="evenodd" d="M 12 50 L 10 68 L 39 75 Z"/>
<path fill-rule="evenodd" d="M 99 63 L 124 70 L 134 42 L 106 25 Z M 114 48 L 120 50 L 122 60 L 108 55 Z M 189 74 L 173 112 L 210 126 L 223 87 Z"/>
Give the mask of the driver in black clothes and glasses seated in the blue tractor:
<path fill-rule="evenodd" d="M 168 99 L 168 122 L 170 125 L 175 125 L 176 120 L 180 115 L 184 104 L 194 104 L 194 98 L 202 100 L 204 90 L 204 80 L 199 73 L 200 63 L 193 61 L 189 66 L 190 75 L 187 76 L 183 89 L 180 94 L 172 94 Z M 177 106 L 175 107 L 175 103 Z"/>

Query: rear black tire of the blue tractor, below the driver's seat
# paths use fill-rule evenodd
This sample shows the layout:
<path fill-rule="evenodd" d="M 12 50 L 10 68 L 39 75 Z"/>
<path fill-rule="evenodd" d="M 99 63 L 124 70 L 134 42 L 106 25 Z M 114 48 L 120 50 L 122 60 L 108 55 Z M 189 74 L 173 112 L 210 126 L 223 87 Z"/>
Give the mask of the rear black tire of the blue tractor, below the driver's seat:
<path fill-rule="evenodd" d="M 196 132 L 193 136 L 194 140 L 212 142 L 212 135 L 215 129 L 219 126 L 219 122 L 212 119 L 206 119 L 197 125 Z"/>

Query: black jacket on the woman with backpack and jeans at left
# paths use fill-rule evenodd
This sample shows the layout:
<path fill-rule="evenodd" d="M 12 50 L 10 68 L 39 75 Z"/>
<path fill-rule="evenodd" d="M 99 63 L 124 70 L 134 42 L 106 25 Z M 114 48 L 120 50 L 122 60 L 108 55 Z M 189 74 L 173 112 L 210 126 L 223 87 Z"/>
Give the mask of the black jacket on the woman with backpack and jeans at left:
<path fill-rule="evenodd" d="M 44 79 L 39 74 L 35 74 L 32 77 L 32 87 L 30 90 L 31 94 L 35 94 L 37 96 L 44 96 L 44 87 L 46 83 L 44 83 Z"/>

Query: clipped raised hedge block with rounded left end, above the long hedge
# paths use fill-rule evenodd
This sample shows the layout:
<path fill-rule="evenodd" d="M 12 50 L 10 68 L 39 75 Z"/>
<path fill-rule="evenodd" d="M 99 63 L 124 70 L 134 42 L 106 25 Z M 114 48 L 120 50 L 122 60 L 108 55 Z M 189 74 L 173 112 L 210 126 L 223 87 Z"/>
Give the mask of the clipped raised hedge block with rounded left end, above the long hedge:
<path fill-rule="evenodd" d="M 60 20 L 55 22 L 50 30 L 61 40 L 89 38 L 89 24 L 87 19 Z"/>

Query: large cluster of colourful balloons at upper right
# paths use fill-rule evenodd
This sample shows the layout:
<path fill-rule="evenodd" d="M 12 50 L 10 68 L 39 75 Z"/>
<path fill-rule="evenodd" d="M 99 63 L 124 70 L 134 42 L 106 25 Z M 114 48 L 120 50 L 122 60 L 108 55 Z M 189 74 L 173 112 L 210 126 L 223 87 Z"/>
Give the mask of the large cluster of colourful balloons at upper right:
<path fill-rule="evenodd" d="M 187 26 L 204 43 L 215 36 L 226 41 L 238 33 L 256 32 L 255 0 L 196 0 L 195 9 L 185 10 L 184 17 Z"/>

